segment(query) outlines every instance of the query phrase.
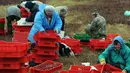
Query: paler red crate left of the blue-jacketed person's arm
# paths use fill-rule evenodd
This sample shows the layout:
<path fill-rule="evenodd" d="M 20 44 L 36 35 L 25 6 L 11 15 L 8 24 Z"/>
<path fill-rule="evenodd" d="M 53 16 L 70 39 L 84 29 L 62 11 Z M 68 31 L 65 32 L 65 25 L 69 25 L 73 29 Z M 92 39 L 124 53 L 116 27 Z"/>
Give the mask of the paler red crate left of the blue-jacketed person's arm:
<path fill-rule="evenodd" d="M 15 31 L 12 41 L 13 42 L 28 42 L 28 34 L 29 32 Z"/>

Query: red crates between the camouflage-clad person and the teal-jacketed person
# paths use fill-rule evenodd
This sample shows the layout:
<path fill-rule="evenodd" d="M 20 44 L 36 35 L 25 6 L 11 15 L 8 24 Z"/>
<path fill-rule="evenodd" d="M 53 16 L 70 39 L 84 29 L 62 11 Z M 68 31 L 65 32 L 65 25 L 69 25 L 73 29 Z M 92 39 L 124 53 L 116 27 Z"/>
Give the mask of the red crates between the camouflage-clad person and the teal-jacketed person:
<path fill-rule="evenodd" d="M 107 48 L 113 41 L 113 39 L 119 34 L 108 34 L 106 39 L 91 39 L 90 40 L 90 50 L 96 49 L 105 49 Z"/>

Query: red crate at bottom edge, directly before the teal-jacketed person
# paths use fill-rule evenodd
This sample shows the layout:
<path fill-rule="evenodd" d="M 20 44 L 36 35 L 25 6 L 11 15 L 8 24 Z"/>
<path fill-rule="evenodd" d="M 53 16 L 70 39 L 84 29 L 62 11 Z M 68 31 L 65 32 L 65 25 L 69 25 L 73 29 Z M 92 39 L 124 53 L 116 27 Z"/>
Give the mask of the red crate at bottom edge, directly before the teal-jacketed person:
<path fill-rule="evenodd" d="M 98 71 L 100 73 L 104 73 L 104 71 L 105 72 L 108 71 L 110 73 L 115 72 L 115 71 L 118 71 L 118 72 L 122 71 L 121 69 L 116 68 L 116 67 L 114 67 L 114 66 L 112 66 L 110 64 L 105 64 L 105 65 L 97 64 L 97 65 L 95 65 L 95 67 L 98 69 Z"/>

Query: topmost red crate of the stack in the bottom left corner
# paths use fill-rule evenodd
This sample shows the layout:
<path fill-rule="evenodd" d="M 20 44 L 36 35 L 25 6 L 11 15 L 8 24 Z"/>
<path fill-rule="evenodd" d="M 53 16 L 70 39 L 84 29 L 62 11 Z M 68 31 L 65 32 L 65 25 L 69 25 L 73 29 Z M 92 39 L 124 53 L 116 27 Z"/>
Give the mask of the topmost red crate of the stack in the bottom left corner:
<path fill-rule="evenodd" d="M 20 58 L 26 54 L 29 43 L 4 42 L 0 44 L 0 58 Z"/>

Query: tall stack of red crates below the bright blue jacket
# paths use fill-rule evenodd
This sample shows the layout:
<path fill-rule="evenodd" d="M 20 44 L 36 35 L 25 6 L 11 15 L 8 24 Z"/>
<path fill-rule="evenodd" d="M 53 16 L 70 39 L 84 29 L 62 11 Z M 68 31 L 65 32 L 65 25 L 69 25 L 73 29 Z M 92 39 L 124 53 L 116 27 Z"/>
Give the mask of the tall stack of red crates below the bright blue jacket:
<path fill-rule="evenodd" d="M 54 31 L 39 32 L 35 35 L 35 40 L 37 42 L 35 49 L 35 53 L 33 54 L 33 58 L 36 63 L 42 63 L 45 60 L 55 60 L 58 59 L 59 56 L 56 53 L 56 50 L 59 49 L 57 42 L 60 37 Z"/>

